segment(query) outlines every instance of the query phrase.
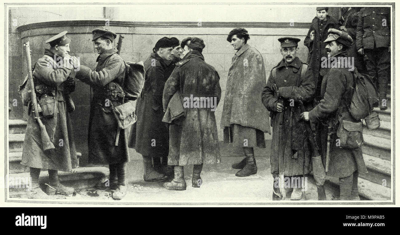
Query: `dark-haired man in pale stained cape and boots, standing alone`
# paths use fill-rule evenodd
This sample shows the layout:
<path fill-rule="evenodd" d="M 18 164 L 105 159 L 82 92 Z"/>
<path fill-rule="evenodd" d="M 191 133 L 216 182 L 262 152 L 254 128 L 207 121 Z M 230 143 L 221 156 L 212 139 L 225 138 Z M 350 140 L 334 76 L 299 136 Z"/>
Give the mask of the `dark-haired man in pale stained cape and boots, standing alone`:
<path fill-rule="evenodd" d="M 264 133 L 270 133 L 268 110 L 260 100 L 265 86 L 264 60 L 256 48 L 247 44 L 249 39 L 244 28 L 234 28 L 226 38 L 237 51 L 228 72 L 221 128 L 225 143 L 243 148 L 245 158 L 232 165 L 240 169 L 238 177 L 257 173 L 254 147 L 265 148 Z"/>

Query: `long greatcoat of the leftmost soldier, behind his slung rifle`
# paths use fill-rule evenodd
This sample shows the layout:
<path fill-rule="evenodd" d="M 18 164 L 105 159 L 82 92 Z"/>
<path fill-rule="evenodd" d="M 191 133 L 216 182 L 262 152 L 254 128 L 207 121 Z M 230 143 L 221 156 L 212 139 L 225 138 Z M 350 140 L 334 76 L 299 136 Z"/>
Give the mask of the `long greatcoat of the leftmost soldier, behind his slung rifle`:
<path fill-rule="evenodd" d="M 54 58 L 57 58 L 57 61 Z M 78 167 L 78 159 L 76 158 L 70 114 L 66 111 L 66 103 L 64 102 L 63 82 L 67 80 L 68 76 L 73 76 L 74 72 L 72 67 L 62 67 L 60 63 L 57 64 L 60 61 L 59 59 L 62 60 L 46 49 L 45 56 L 38 60 L 33 71 L 35 86 L 45 84 L 46 86 L 57 87 L 57 95 L 54 92 L 54 95 L 57 96 L 54 117 L 41 119 L 55 149 L 46 152 L 42 150 L 40 129 L 34 119 L 34 114 L 30 112 L 21 164 L 40 169 L 71 171 L 72 168 Z M 38 95 L 37 97 L 40 99 Z"/>

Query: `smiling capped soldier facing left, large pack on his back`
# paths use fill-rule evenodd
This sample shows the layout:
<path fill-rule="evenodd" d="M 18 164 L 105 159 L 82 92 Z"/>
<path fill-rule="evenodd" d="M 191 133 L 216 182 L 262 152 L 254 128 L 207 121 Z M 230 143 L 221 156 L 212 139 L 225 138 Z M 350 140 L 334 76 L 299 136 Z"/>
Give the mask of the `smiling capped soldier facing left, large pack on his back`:
<path fill-rule="evenodd" d="M 112 42 L 116 34 L 100 28 L 92 31 L 94 48 L 99 56 L 95 70 L 81 65 L 76 78 L 89 84 L 93 89 L 93 98 L 89 116 L 89 162 L 109 165 L 110 178 L 100 189 L 112 190 L 112 198 L 120 200 L 126 195 L 126 162 L 129 161 L 128 133 L 120 130 L 118 146 L 116 138 L 118 123 L 112 111 L 113 107 L 124 104 L 124 99 L 113 93 L 123 92 L 121 81 L 125 78 L 125 63 Z"/>

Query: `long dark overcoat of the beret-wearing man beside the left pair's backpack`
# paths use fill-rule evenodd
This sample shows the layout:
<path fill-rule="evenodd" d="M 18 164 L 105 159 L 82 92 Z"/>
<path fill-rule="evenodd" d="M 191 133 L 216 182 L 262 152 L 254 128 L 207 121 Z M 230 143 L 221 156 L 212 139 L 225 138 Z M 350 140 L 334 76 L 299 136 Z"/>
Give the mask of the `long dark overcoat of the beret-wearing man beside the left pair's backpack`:
<path fill-rule="evenodd" d="M 136 103 L 138 120 L 132 127 L 129 147 L 136 152 L 150 157 L 167 157 L 169 134 L 166 124 L 161 120 L 162 92 L 168 77 L 166 64 L 156 53 L 151 53 L 144 62 L 146 78 L 141 96 Z"/>

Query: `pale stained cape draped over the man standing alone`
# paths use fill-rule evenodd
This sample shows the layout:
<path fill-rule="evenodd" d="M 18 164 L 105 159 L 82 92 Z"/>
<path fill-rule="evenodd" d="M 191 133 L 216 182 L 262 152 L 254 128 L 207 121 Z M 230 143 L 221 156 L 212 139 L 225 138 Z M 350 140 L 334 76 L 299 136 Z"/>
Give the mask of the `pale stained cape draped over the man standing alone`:
<path fill-rule="evenodd" d="M 229 68 L 221 117 L 222 129 L 238 124 L 264 133 L 271 132 L 268 110 L 260 100 L 265 80 L 264 60 L 260 52 L 244 44 L 233 56 Z"/>

